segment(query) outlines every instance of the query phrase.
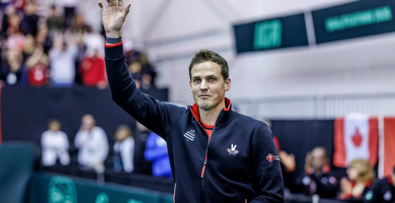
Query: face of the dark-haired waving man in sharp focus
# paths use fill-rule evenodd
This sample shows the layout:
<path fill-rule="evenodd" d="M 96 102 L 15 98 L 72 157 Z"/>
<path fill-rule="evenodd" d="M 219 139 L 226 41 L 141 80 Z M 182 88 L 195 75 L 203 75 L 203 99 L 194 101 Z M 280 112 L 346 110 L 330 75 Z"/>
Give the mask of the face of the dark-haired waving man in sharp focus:
<path fill-rule="evenodd" d="M 224 101 L 225 91 L 230 89 L 230 78 L 221 75 L 218 63 L 205 61 L 191 69 L 192 81 L 189 82 L 194 101 L 203 110 L 210 110 Z"/>

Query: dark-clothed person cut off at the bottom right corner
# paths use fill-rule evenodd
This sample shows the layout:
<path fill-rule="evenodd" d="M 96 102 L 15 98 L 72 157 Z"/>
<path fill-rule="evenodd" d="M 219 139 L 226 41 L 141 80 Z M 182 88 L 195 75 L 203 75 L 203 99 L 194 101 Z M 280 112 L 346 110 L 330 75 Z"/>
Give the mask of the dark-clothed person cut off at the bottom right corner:
<path fill-rule="evenodd" d="M 376 181 L 364 197 L 364 203 L 390 203 L 395 202 L 395 166 L 392 173 Z"/>

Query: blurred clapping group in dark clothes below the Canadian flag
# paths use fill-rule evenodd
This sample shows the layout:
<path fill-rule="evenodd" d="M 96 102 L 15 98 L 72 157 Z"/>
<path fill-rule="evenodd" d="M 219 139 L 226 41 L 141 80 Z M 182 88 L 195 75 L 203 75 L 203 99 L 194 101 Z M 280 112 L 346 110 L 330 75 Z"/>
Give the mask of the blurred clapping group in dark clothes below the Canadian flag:
<path fill-rule="evenodd" d="M 265 121 L 271 127 L 270 121 Z M 355 159 L 350 162 L 346 173 L 333 168 L 324 147 L 315 147 L 305 157 L 304 172 L 296 174 L 295 156 L 280 150 L 274 136 L 286 188 L 286 196 L 337 199 L 345 202 L 382 203 L 395 202 L 395 166 L 391 175 L 377 179 L 374 166 L 369 160 Z M 341 170 L 341 169 L 340 169 Z M 298 197 L 299 196 L 299 197 Z"/>

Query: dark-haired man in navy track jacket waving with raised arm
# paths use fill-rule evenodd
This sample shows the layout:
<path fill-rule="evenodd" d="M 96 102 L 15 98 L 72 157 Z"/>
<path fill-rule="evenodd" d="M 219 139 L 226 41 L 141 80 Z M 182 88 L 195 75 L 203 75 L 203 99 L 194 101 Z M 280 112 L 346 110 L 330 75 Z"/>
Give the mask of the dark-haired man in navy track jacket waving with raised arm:
<path fill-rule="evenodd" d="M 137 89 L 125 63 L 120 29 L 130 4 L 107 0 L 105 66 L 112 99 L 167 142 L 176 203 L 284 202 L 280 161 L 271 130 L 231 110 L 228 62 L 200 50 L 189 65 L 196 102 L 162 103 Z"/>

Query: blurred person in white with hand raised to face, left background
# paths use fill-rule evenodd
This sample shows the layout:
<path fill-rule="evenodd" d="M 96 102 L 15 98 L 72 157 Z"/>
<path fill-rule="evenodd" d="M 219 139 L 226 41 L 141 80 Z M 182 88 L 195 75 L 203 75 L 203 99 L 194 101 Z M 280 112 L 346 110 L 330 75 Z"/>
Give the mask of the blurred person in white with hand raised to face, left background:
<path fill-rule="evenodd" d="M 104 161 L 108 156 L 107 135 L 96 126 L 94 117 L 86 114 L 82 125 L 75 135 L 74 145 L 78 149 L 78 163 L 85 169 L 104 171 Z"/>

